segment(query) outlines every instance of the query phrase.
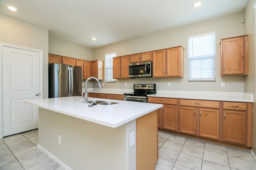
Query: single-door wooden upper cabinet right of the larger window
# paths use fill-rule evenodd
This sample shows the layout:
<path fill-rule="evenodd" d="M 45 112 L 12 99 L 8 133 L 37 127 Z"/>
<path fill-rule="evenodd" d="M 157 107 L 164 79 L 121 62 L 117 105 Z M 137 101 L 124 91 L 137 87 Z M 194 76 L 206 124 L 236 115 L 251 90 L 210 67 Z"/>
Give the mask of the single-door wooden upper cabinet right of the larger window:
<path fill-rule="evenodd" d="M 248 35 L 220 40 L 221 76 L 248 75 Z"/>

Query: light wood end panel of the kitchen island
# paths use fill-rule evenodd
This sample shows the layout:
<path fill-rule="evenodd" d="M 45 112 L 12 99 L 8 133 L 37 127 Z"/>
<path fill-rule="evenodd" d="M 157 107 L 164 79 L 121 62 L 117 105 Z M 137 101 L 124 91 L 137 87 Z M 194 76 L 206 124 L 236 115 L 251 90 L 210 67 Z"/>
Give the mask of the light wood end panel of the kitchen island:
<path fill-rule="evenodd" d="M 136 170 L 155 170 L 158 152 L 157 111 L 136 119 Z"/>

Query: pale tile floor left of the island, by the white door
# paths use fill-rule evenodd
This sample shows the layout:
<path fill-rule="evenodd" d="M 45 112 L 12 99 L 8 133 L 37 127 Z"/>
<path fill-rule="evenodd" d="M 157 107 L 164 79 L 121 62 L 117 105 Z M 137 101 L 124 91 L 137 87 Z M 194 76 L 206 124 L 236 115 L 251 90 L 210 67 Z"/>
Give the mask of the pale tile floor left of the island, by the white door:
<path fill-rule="evenodd" d="M 0 139 L 0 170 L 64 170 L 37 144 L 38 129 Z"/>

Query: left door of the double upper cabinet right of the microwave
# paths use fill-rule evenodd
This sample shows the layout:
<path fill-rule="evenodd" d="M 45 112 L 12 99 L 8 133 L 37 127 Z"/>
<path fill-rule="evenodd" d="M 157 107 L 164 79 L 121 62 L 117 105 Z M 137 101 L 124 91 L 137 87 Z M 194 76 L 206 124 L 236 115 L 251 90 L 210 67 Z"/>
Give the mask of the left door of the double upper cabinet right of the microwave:
<path fill-rule="evenodd" d="M 153 51 L 153 77 L 165 77 L 165 50 Z"/>

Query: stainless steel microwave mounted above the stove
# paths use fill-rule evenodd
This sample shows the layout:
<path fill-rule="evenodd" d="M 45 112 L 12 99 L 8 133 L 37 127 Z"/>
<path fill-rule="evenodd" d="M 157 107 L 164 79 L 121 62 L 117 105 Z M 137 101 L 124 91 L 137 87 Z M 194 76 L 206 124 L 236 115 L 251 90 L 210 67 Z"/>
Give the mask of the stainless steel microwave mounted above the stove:
<path fill-rule="evenodd" d="M 142 78 L 152 77 L 152 62 L 141 62 L 129 64 L 129 77 Z"/>

